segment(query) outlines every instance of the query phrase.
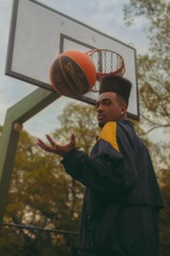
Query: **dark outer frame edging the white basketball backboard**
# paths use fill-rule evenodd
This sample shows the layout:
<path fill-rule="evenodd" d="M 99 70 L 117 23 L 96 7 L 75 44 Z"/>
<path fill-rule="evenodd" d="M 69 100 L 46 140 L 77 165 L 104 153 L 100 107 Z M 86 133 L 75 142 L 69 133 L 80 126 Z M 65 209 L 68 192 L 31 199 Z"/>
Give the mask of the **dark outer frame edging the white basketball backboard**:
<path fill-rule="evenodd" d="M 104 34 L 102 32 L 100 32 L 99 30 L 90 27 L 89 25 L 84 24 L 83 22 L 80 22 L 79 20 L 73 19 L 72 17 L 69 17 L 66 14 L 63 14 L 62 12 L 58 12 L 57 10 L 46 6 L 45 4 L 42 4 L 38 1 L 35 0 L 27 0 L 27 1 L 31 1 L 32 3 L 35 3 L 37 5 L 40 5 L 40 7 L 43 7 L 45 9 L 50 10 L 51 12 L 55 12 L 56 14 L 61 15 L 62 17 L 66 17 L 68 20 L 72 20 L 73 22 L 78 23 L 79 25 L 82 25 L 84 27 L 89 28 L 90 30 L 93 30 L 96 33 L 99 33 L 100 35 L 104 35 L 104 37 L 110 38 L 112 40 L 115 40 L 117 43 L 120 43 L 128 48 L 131 48 L 134 51 L 135 54 L 135 80 L 136 80 L 136 99 L 137 99 L 137 115 L 135 114 L 130 114 L 128 113 L 128 116 L 132 119 L 136 119 L 139 120 L 140 119 L 140 111 L 139 111 L 139 98 L 138 98 L 138 78 L 137 78 L 137 58 L 136 58 L 136 49 L 133 48 L 132 46 L 129 46 L 126 43 L 123 43 L 120 40 L 117 40 L 116 38 L 111 37 L 110 35 Z M 18 12 L 18 6 L 19 6 L 19 0 L 13 0 L 12 3 L 12 17 L 11 17 L 11 25 L 10 25 L 10 29 L 9 29 L 9 42 L 8 42 L 8 49 L 7 49 L 7 54 L 6 54 L 6 67 L 5 67 L 5 74 L 9 75 L 10 77 L 14 77 L 17 78 L 19 80 L 22 80 L 24 82 L 28 82 L 32 85 L 37 85 L 40 88 L 44 88 L 46 90 L 50 90 L 55 92 L 55 90 L 53 90 L 53 87 L 50 84 L 47 84 L 45 82 L 42 82 L 40 80 L 35 80 L 32 79 L 30 77 L 27 77 L 23 74 L 19 74 L 17 72 L 12 71 L 12 57 L 13 57 L 13 51 L 14 51 L 14 38 L 15 38 L 15 33 L 16 33 L 16 25 L 17 25 L 17 12 Z M 62 35 L 62 33 L 61 33 Z M 66 35 L 67 36 L 67 35 Z M 69 38 L 69 36 L 68 36 Z M 60 38 L 60 40 L 62 40 Z M 86 43 L 84 43 L 84 46 L 86 45 Z M 88 46 L 88 45 L 86 45 Z M 89 46 L 88 46 L 89 47 Z M 94 48 L 93 46 L 91 46 L 92 48 Z M 61 46 L 60 46 L 60 50 L 61 50 Z M 87 98 L 86 96 L 81 96 L 79 98 L 75 97 L 76 100 L 79 101 L 84 101 L 85 103 L 89 103 L 91 105 L 95 105 L 95 100 L 92 100 L 90 98 Z"/>

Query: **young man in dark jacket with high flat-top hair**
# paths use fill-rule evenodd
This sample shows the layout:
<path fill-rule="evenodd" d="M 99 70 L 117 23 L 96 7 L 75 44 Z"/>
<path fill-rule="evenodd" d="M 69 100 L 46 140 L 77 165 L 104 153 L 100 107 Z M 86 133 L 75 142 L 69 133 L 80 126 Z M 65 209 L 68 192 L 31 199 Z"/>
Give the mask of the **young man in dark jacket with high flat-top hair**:
<path fill-rule="evenodd" d="M 157 256 L 161 195 L 146 146 L 127 121 L 130 81 L 103 78 L 97 100 L 102 131 L 89 156 L 68 145 L 38 140 L 43 150 L 63 156 L 63 166 L 86 186 L 82 206 L 81 256 Z"/>

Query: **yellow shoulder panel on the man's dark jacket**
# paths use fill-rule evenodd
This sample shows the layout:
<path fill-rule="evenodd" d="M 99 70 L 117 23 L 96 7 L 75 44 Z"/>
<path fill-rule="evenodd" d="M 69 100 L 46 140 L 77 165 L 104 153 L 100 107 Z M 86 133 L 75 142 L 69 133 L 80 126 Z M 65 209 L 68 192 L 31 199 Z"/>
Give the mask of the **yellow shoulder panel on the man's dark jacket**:
<path fill-rule="evenodd" d="M 115 150 L 120 151 L 117 145 L 117 124 L 115 121 L 108 121 L 107 124 L 104 125 L 102 131 L 99 133 L 99 139 L 106 140 L 109 142 Z"/>

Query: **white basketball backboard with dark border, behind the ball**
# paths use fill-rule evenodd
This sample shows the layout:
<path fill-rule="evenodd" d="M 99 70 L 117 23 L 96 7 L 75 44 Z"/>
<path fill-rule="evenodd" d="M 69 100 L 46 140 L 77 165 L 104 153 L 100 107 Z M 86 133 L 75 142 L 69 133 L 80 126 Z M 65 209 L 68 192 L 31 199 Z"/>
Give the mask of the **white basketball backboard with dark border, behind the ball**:
<path fill-rule="evenodd" d="M 125 61 L 124 77 L 133 83 L 128 116 L 139 119 L 135 48 L 34 0 L 13 0 L 6 74 L 53 91 L 50 66 L 63 51 L 116 51 Z M 94 104 L 98 93 L 78 99 Z M 76 98 L 76 97 L 75 97 Z"/>

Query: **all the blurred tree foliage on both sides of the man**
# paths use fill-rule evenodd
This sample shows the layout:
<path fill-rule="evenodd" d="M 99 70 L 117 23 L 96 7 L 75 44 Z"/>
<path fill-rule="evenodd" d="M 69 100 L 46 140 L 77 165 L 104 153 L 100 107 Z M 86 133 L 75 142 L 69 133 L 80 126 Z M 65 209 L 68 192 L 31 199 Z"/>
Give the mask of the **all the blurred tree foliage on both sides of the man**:
<path fill-rule="evenodd" d="M 165 208 L 161 210 L 160 220 L 161 243 L 169 243 L 170 239 L 169 144 L 153 145 L 145 135 L 158 127 L 166 128 L 167 132 L 170 127 L 169 14 L 170 4 L 166 0 L 130 0 L 130 4 L 125 6 L 128 25 L 132 25 L 140 15 L 148 20 L 146 33 L 151 42 L 150 51 L 145 56 L 138 56 L 141 121 L 139 124 L 133 122 L 138 134 L 143 136 L 150 148 L 164 197 Z M 53 132 L 55 140 L 67 142 L 73 130 L 76 133 L 76 146 L 89 153 L 99 132 L 94 108 L 72 103 L 64 108 L 58 119 L 61 127 Z M 37 148 L 35 140 L 28 132 L 21 133 L 4 221 L 78 231 L 84 187 L 65 173 L 61 158 L 44 153 Z M 1 238 L 1 255 L 8 246 L 17 253 L 16 256 L 76 256 L 76 242 L 68 236 L 58 238 L 52 234 L 25 230 L 13 232 L 13 236 L 5 232 L 4 238 Z M 72 252 L 69 249 L 71 243 Z M 28 247 L 34 251 L 26 254 Z M 167 250 L 161 252 L 164 256 L 169 254 Z"/>

